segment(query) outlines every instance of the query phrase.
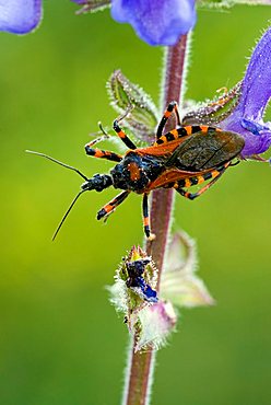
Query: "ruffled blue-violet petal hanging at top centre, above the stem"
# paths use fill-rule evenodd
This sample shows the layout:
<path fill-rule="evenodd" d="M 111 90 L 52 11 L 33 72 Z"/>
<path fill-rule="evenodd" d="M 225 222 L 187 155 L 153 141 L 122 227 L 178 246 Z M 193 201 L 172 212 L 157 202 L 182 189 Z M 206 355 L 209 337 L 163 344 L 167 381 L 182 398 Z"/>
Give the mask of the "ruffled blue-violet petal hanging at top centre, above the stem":
<path fill-rule="evenodd" d="M 195 0 L 113 0 L 111 15 L 150 45 L 175 45 L 196 22 Z"/>

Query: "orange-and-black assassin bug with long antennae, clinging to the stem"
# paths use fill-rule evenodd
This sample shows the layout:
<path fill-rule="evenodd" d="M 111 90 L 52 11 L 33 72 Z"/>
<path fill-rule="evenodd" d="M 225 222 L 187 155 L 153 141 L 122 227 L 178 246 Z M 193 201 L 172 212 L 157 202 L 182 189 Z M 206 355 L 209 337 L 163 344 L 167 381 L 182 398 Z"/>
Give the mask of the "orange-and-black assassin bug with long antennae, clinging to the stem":
<path fill-rule="evenodd" d="M 177 128 L 163 135 L 165 124 L 173 113 L 177 118 Z M 228 166 L 234 165 L 232 160 L 240 153 L 245 144 L 244 139 L 235 132 L 222 131 L 207 125 L 181 126 L 176 102 L 168 104 L 158 124 L 156 140 L 146 148 L 137 148 L 129 139 L 119 126 L 122 118 L 116 119 L 113 127 L 118 137 L 129 148 L 125 155 L 93 148 L 97 141 L 105 139 L 105 137 L 85 146 L 86 154 L 117 162 L 109 174 L 95 174 L 87 178 L 75 167 L 43 153 L 34 152 L 75 171 L 85 180 L 81 186 L 81 192 L 76 195 L 57 228 L 54 239 L 82 193 L 93 189 L 102 192 L 110 186 L 120 188 L 122 192 L 97 212 L 97 219 L 107 218 L 131 192 L 142 194 L 144 233 L 146 238 L 153 239 L 148 207 L 150 192 L 156 188 L 175 188 L 181 196 L 195 199 L 209 189 Z M 106 134 L 105 136 L 108 137 Z M 184 189 L 205 181 L 210 182 L 197 193 L 191 194 Z"/>

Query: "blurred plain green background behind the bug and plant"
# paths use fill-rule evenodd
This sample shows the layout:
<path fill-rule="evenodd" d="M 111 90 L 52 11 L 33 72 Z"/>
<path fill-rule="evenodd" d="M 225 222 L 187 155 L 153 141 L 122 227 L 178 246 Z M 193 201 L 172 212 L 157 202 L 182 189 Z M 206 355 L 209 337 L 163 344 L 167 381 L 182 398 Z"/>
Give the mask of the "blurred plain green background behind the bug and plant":
<path fill-rule="evenodd" d="M 142 242 L 141 200 L 129 197 L 103 224 L 95 213 L 116 192 L 84 195 L 51 243 L 81 180 L 24 150 L 107 172 L 109 162 L 83 149 L 99 119 L 116 117 L 106 80 L 121 68 L 157 102 L 163 53 L 108 11 L 76 16 L 64 0 L 44 8 L 34 34 L 0 34 L 0 404 L 119 404 L 128 334 L 104 286 Z M 200 11 L 187 96 L 235 84 L 268 18 L 264 7 Z M 199 200 L 176 198 L 173 228 L 198 241 L 217 303 L 182 311 L 158 354 L 153 404 L 270 404 L 270 182 L 267 164 L 244 162 Z"/>

